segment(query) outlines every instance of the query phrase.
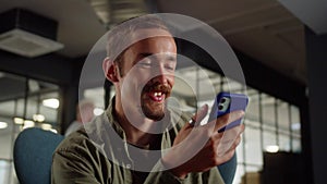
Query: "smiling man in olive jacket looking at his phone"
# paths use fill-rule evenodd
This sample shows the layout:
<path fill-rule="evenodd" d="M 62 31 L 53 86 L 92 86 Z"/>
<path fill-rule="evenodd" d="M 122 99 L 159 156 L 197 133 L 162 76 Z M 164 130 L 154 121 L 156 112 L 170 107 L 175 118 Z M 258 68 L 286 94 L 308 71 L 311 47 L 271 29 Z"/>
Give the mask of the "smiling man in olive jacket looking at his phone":
<path fill-rule="evenodd" d="M 217 131 L 243 112 L 198 125 L 207 106 L 195 115 L 170 107 L 177 62 L 174 39 L 156 15 L 113 28 L 104 71 L 116 97 L 57 148 L 52 183 L 223 183 L 216 165 L 234 155 L 244 126 Z"/>

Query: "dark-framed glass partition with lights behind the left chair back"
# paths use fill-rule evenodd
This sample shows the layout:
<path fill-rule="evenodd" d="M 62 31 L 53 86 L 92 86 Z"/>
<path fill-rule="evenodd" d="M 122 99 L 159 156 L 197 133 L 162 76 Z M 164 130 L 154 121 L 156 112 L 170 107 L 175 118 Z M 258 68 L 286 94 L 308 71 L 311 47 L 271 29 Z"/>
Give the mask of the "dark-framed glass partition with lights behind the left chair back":
<path fill-rule="evenodd" d="M 13 144 L 24 128 L 58 132 L 59 87 L 0 72 L 0 184 L 17 183 Z"/>

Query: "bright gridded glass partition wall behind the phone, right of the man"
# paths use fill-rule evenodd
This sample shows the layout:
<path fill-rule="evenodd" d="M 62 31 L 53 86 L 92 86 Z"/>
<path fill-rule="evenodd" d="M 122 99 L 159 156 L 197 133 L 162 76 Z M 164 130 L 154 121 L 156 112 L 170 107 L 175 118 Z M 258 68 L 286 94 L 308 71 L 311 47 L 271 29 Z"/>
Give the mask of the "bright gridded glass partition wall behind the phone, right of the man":
<path fill-rule="evenodd" d="M 202 69 L 203 70 L 203 69 Z M 198 75 L 198 69 L 195 66 L 180 69 L 178 75 L 187 75 L 193 77 L 195 83 L 204 83 L 203 77 Z M 242 142 L 237 148 L 238 169 L 234 184 L 259 183 L 259 172 L 263 170 L 264 152 L 301 152 L 301 125 L 299 107 L 282 101 L 268 94 L 262 93 L 250 86 L 243 86 L 237 81 L 223 77 L 218 73 L 205 70 L 217 93 L 246 93 L 250 102 L 244 118 L 245 132 L 242 135 Z M 198 84 L 193 84 L 194 88 Z M 175 86 L 174 89 L 183 91 L 182 86 Z M 246 90 L 245 90 L 246 88 Z M 184 94 L 179 93 L 181 101 L 192 99 Z M 204 97 L 204 99 L 206 99 Z M 203 103 L 213 105 L 213 99 L 197 100 L 197 103 L 181 102 L 183 109 L 195 112 L 196 107 Z M 209 108 L 210 109 L 210 108 Z M 249 176 L 250 175 L 250 176 Z"/>

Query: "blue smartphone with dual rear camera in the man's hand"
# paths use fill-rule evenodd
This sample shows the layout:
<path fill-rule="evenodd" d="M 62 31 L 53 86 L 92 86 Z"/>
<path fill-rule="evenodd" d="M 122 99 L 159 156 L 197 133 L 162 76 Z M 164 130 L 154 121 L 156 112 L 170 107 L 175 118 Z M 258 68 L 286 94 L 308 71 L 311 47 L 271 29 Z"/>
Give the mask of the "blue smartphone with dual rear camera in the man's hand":
<path fill-rule="evenodd" d="M 245 112 L 249 103 L 249 97 L 244 94 L 219 93 L 216 96 L 214 106 L 211 108 L 208 122 L 232 111 L 243 110 Z M 219 133 L 240 125 L 242 119 L 229 123 L 227 126 L 218 130 Z"/>

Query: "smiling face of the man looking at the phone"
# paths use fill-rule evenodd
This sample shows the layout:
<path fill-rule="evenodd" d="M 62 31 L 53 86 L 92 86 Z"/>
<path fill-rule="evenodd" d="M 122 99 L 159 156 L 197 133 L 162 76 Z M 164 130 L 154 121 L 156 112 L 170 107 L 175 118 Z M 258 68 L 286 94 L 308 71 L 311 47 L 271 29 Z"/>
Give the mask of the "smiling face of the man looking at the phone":
<path fill-rule="evenodd" d="M 143 39 L 125 50 L 121 62 L 124 110 L 137 111 L 152 120 L 162 119 L 165 101 L 174 84 L 177 47 L 173 38 L 167 35 Z"/>

